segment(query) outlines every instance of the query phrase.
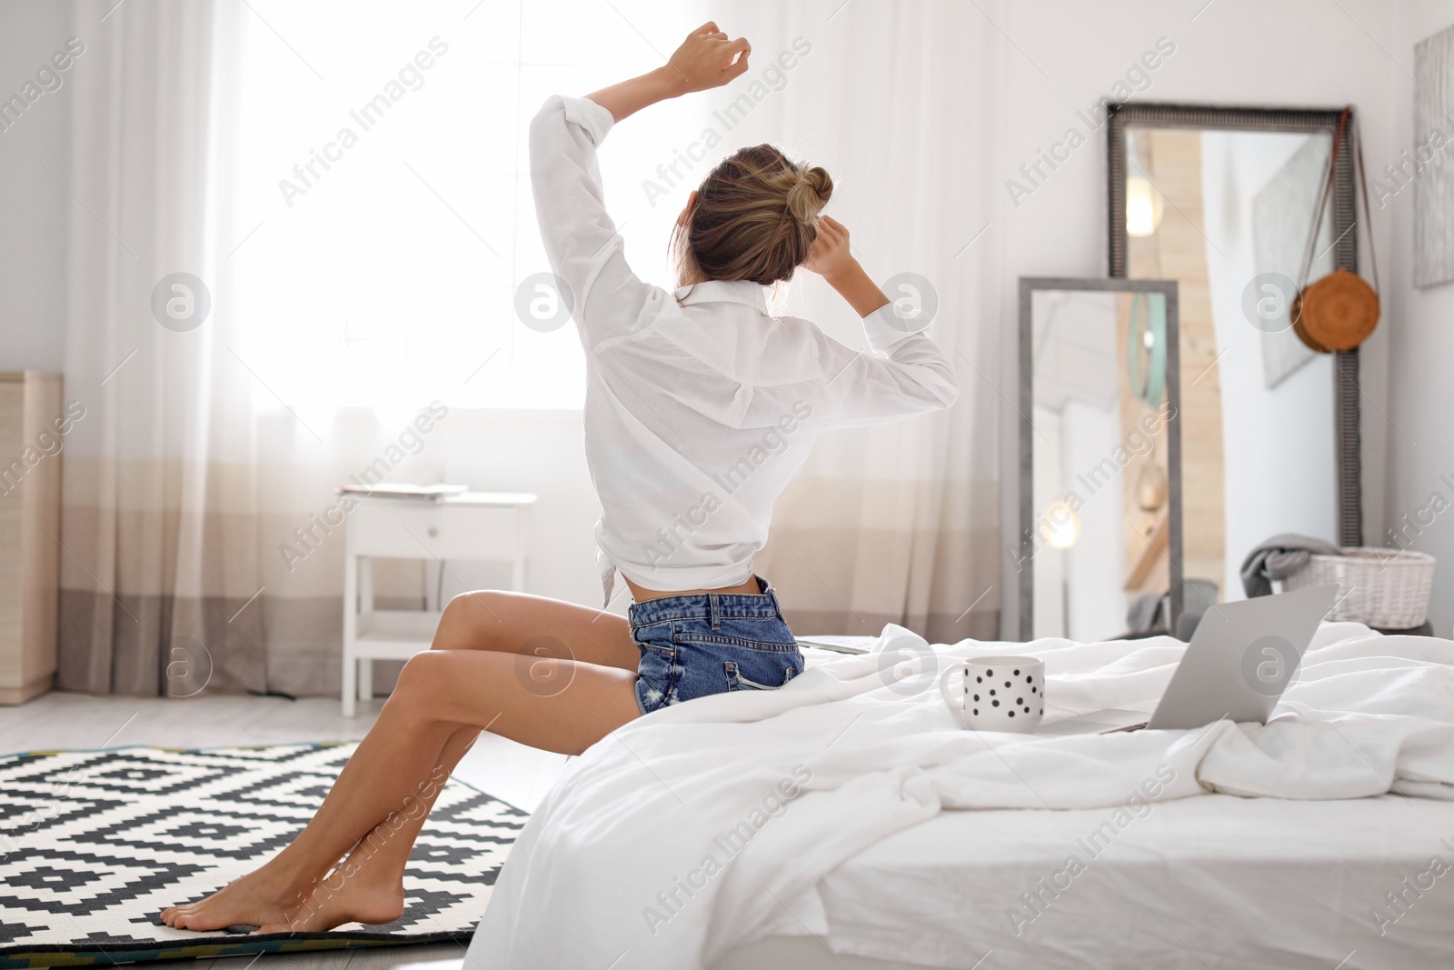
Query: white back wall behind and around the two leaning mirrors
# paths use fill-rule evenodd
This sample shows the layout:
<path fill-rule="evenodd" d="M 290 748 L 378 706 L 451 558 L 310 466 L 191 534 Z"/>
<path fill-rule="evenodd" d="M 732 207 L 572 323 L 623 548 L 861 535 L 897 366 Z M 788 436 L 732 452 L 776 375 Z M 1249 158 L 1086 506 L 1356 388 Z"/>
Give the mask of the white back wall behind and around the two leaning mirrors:
<path fill-rule="evenodd" d="M 1019 177 L 1019 166 L 1034 163 L 1037 151 L 1060 141 L 1069 128 L 1086 134 L 1088 125 L 1076 112 L 1089 113 L 1095 100 L 1111 95 L 1112 86 L 1122 81 L 1128 68 L 1163 36 L 1175 44 L 1175 51 L 1149 73 L 1150 83 L 1134 95 L 1137 99 L 1217 105 L 1352 103 L 1359 109 L 1370 166 L 1373 159 L 1391 157 L 1399 125 L 1407 128 L 1406 121 L 1394 118 L 1396 93 L 1409 83 L 1400 67 L 1380 51 L 1380 45 L 1394 49 L 1393 19 L 1383 3 L 1343 0 L 1341 6 L 1346 15 L 1320 0 L 1275 4 L 1218 0 L 1205 6 L 1201 0 L 1005 4 L 999 28 L 1024 54 L 1005 41 L 1000 118 L 996 131 L 986 132 L 1000 145 L 1003 179 Z M 1405 51 L 1405 68 L 1410 63 L 1412 54 Z M 1407 113 L 1406 100 L 1400 108 L 1403 113 Z M 980 244 L 999 247 L 1000 253 L 999 390 L 1012 400 L 1016 278 L 1106 273 L 1105 148 L 1105 129 L 1101 128 L 1029 196 L 1019 198 L 1018 207 L 1005 192 L 993 212 L 965 215 L 967 223 L 977 225 L 993 221 Z M 1387 259 L 1393 233 L 1387 215 L 1375 214 L 1374 231 L 1378 252 Z M 1431 310 L 1431 330 L 1434 313 Z M 1364 532 L 1370 541 L 1384 531 L 1383 470 L 1387 442 L 1397 435 L 1380 412 L 1389 409 L 1391 330 L 1393 326 L 1380 327 L 1362 349 Z M 1437 339 L 1445 340 L 1439 345 L 1444 359 L 1454 359 L 1448 352 L 1450 334 Z M 1425 353 L 1434 352 L 1432 346 L 1425 348 Z M 1425 361 L 1419 380 L 1429 380 L 1426 374 L 1435 366 L 1428 356 Z M 1399 374 L 1400 382 L 1410 377 L 1402 366 Z M 1002 417 L 1005 480 L 1000 508 L 1006 534 L 1013 535 L 1019 417 L 1011 409 L 1005 409 Z"/>

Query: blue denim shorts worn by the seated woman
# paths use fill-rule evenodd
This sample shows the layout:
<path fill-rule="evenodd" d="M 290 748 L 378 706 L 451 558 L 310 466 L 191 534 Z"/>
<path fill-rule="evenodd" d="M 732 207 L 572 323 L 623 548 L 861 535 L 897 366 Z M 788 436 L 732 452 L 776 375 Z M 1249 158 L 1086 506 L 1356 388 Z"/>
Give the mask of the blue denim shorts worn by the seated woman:
<path fill-rule="evenodd" d="M 772 586 L 760 593 L 691 593 L 632 604 L 643 714 L 726 691 L 775 691 L 803 670 Z"/>

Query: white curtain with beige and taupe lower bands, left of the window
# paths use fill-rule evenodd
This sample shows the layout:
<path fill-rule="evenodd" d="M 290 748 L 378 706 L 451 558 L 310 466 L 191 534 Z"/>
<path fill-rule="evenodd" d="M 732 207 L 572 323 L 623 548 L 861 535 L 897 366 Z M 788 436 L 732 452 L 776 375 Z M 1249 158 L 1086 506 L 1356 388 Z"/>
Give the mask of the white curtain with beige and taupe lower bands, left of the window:
<path fill-rule="evenodd" d="M 228 256 L 253 228 L 228 204 L 246 7 L 112 6 L 74 7 L 86 52 L 70 164 L 55 172 L 76 199 L 67 396 L 86 409 L 65 442 L 58 685 L 332 694 L 343 532 L 318 532 L 310 515 L 400 429 L 366 409 L 305 423 L 233 311 Z M 435 480 L 441 464 L 411 455 L 394 471 Z M 423 569 L 385 564 L 377 588 L 381 605 L 417 608 Z"/>

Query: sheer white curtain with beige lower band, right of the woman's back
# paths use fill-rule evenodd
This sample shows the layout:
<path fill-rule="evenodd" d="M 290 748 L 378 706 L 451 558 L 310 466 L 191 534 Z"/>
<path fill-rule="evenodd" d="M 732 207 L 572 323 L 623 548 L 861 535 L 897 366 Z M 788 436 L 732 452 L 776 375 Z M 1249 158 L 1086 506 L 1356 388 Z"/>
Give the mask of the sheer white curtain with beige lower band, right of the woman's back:
<path fill-rule="evenodd" d="M 875 279 L 929 282 L 931 333 L 960 377 L 949 412 L 823 438 L 778 500 L 758 566 L 800 634 L 885 622 L 932 641 L 999 631 L 999 44 L 984 20 L 997 6 L 980 7 L 824 0 L 733 12 L 753 25 L 759 64 L 798 38 L 798 49 L 811 45 L 733 144 L 772 141 L 833 175 L 827 212 Z M 784 305 L 862 346 L 852 311 L 820 281 L 794 282 Z"/>

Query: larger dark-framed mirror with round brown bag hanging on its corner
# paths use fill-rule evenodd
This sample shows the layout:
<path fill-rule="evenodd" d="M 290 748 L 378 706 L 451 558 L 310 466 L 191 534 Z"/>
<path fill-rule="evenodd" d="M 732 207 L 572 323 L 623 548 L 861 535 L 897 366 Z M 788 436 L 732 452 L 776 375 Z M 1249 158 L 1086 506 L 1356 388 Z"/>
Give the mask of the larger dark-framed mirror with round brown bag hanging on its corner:
<path fill-rule="evenodd" d="M 1111 108 L 1109 275 L 1181 284 L 1182 569 L 1217 601 L 1242 598 L 1243 558 L 1275 534 L 1362 541 L 1358 352 L 1312 350 L 1287 313 L 1297 285 L 1358 269 L 1342 118 Z"/>

